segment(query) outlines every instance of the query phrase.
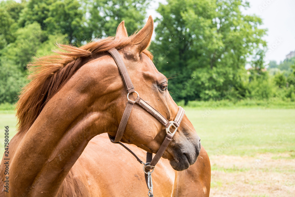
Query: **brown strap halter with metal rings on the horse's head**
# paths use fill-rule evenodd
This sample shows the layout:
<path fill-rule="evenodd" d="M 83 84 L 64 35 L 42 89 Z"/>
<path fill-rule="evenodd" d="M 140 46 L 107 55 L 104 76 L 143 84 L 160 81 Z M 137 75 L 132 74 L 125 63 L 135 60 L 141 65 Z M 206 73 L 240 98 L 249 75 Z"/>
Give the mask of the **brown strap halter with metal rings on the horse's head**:
<path fill-rule="evenodd" d="M 125 149 L 127 149 L 129 152 L 131 152 L 137 159 L 138 162 L 140 162 L 141 164 L 143 164 L 143 170 L 145 172 L 145 181 L 148 185 L 148 195 L 149 196 L 153 196 L 153 183 L 152 183 L 152 179 L 151 179 L 151 173 L 154 171 L 155 165 L 158 163 L 158 161 L 160 160 L 160 158 L 162 157 L 163 153 L 165 152 L 168 144 L 171 142 L 173 135 L 176 133 L 179 124 L 183 118 L 184 115 L 184 109 L 180 106 L 178 106 L 178 113 L 176 115 L 176 118 L 174 119 L 174 121 L 168 121 L 160 112 L 158 112 L 157 110 L 155 110 L 151 105 L 149 105 L 147 102 L 145 102 L 144 100 L 142 100 L 142 98 L 139 97 L 139 94 L 135 91 L 134 86 L 132 84 L 132 81 L 130 79 L 130 76 L 127 72 L 126 66 L 122 60 L 122 57 L 120 56 L 119 52 L 117 51 L 117 49 L 112 48 L 109 50 L 109 53 L 113 56 L 119 71 L 121 73 L 123 82 L 126 86 L 126 89 L 128 91 L 127 94 L 127 105 L 126 108 L 124 110 L 121 122 L 119 124 L 119 128 L 117 131 L 117 134 L 115 136 L 115 138 L 113 138 L 111 135 L 109 135 L 109 139 L 113 142 L 113 143 L 118 143 L 120 145 L 122 145 Z M 129 99 L 129 94 L 135 92 L 137 94 L 137 98 L 135 99 L 135 101 L 132 101 Z M 147 161 L 146 163 L 142 162 L 136 155 L 135 153 L 133 153 L 129 148 L 127 148 L 124 144 L 122 144 L 120 142 L 123 133 L 125 131 L 125 127 L 127 125 L 127 121 L 129 119 L 131 110 L 133 108 L 133 105 L 137 103 L 138 105 L 142 106 L 145 110 L 147 110 L 151 115 L 153 115 L 155 118 L 157 118 L 158 121 L 160 121 L 160 123 L 162 123 L 165 128 L 166 128 L 166 137 L 163 141 L 163 143 L 161 144 L 158 152 L 155 154 L 155 157 L 153 158 L 153 153 L 147 152 Z M 170 131 L 170 127 L 174 126 L 175 130 L 173 132 Z M 152 172 L 150 172 L 150 170 L 152 170 Z"/>

